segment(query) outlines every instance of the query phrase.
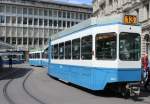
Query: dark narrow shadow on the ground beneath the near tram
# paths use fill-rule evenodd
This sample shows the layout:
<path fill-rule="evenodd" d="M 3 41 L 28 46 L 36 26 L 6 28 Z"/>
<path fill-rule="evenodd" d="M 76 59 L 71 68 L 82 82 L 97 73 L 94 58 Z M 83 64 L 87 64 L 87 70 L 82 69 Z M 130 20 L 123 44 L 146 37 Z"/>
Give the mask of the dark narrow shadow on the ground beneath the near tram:
<path fill-rule="evenodd" d="M 128 99 L 128 100 L 133 100 L 135 102 L 141 102 L 141 103 L 145 103 L 145 104 L 150 104 L 150 102 L 146 102 L 144 101 L 145 97 L 149 97 L 150 96 L 150 90 L 149 91 L 145 91 L 145 90 L 141 90 L 141 94 L 139 96 L 122 96 L 120 93 L 116 93 L 112 90 L 102 90 L 102 91 L 93 91 L 93 90 L 89 90 L 87 88 L 72 84 L 72 83 L 65 83 L 63 81 L 58 80 L 58 78 L 55 78 L 53 76 L 48 75 L 50 78 L 57 80 L 63 84 L 66 84 L 68 86 L 77 88 L 78 90 L 81 91 L 85 91 L 87 93 L 90 93 L 94 96 L 99 96 L 99 97 L 106 97 L 106 98 L 121 98 L 121 99 Z M 143 88 L 142 88 L 143 89 Z"/>

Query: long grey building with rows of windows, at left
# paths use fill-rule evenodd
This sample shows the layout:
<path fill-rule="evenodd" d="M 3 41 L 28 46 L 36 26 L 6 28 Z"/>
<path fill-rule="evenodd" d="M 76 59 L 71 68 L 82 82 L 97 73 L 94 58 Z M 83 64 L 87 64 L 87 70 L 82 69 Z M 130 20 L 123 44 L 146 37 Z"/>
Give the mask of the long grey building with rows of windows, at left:
<path fill-rule="evenodd" d="M 44 48 L 52 34 L 92 15 L 92 6 L 44 0 L 0 0 L 0 40 L 18 50 Z"/>

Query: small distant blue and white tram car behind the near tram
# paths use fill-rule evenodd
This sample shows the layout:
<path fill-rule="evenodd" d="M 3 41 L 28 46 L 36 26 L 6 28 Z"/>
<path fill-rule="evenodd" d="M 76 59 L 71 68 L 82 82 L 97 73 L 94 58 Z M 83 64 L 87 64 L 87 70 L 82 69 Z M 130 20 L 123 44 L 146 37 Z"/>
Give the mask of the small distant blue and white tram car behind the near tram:
<path fill-rule="evenodd" d="M 43 51 L 29 52 L 29 64 L 33 66 L 42 66 L 42 53 Z"/>

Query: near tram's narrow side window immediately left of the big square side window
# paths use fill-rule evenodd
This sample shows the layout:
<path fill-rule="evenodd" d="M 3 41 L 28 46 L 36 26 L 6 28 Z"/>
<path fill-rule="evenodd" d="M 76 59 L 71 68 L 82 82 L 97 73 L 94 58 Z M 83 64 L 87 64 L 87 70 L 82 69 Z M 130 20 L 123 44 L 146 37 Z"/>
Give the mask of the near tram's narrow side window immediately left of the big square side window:
<path fill-rule="evenodd" d="M 92 59 L 92 35 L 81 39 L 81 58 L 83 60 Z"/>

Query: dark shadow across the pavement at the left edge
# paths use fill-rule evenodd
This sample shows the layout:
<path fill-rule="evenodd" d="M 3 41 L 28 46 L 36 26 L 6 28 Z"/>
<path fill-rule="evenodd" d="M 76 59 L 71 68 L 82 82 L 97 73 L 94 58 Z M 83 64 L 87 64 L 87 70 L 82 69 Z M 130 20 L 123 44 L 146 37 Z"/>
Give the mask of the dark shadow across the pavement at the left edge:
<path fill-rule="evenodd" d="M 13 67 L 10 69 L 10 68 L 4 67 L 3 69 L 0 69 L 0 81 L 7 80 L 7 79 L 17 79 L 17 78 L 23 77 L 30 70 L 32 70 L 32 68 Z"/>

